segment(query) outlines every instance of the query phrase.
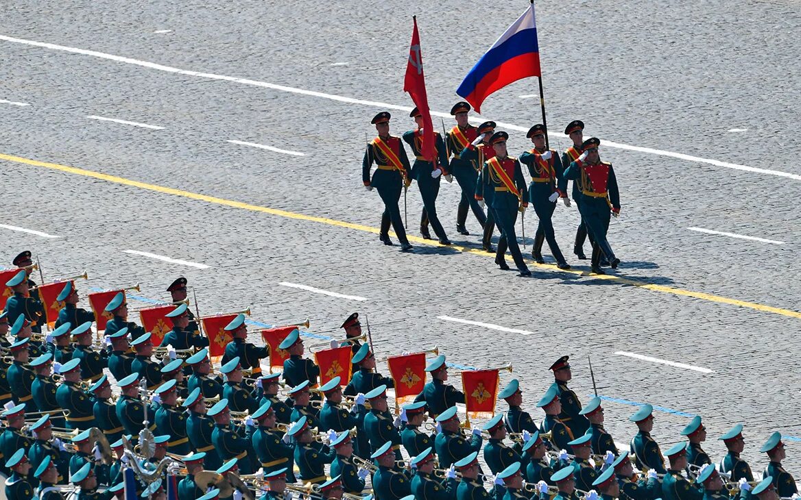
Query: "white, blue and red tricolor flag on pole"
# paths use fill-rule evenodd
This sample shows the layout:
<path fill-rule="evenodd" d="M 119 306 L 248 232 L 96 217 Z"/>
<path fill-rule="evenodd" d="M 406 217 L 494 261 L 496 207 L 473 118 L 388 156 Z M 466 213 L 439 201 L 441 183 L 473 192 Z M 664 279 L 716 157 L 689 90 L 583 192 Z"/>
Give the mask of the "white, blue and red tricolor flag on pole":
<path fill-rule="evenodd" d="M 489 94 L 529 76 L 541 76 L 533 3 L 489 47 L 456 93 L 481 113 L 481 102 Z"/>

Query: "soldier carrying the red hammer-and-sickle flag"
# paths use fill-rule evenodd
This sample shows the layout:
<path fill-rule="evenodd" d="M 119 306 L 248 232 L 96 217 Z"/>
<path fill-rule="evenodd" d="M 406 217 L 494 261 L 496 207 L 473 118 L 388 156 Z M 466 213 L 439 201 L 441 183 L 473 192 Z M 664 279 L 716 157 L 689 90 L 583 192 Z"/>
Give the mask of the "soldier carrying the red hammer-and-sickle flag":
<path fill-rule="evenodd" d="M 420 189 L 423 198 L 423 212 L 420 219 L 420 233 L 425 239 L 431 239 L 429 234 L 429 222 L 433 227 L 434 234 L 440 240 L 441 245 L 450 245 L 448 235 L 437 218 L 437 194 L 440 192 L 440 181 L 442 175 L 453 182 L 453 178 L 448 174 L 448 154 L 445 152 L 445 142 L 439 132 L 434 130 L 434 153 L 436 158 L 433 162 L 421 156 L 423 150 L 423 115 L 414 107 L 409 117 L 417 122 L 417 129 L 409 130 L 403 134 L 403 140 L 412 146 L 415 160 L 412 165 L 412 177 L 417 181 L 417 188 Z"/>

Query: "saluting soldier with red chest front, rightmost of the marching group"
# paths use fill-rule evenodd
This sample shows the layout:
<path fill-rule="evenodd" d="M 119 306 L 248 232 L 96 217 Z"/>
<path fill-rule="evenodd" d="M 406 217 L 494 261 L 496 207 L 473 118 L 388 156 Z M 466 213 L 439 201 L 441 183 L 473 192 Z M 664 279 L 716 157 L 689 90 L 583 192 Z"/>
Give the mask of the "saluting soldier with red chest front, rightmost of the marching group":
<path fill-rule="evenodd" d="M 620 193 L 618 180 L 614 177 L 612 164 L 602 162 L 598 155 L 598 146 L 601 140 L 589 138 L 582 144 L 584 152 L 565 170 L 565 178 L 581 179 L 582 194 L 579 210 L 592 234 L 593 260 L 592 271 L 595 274 L 605 274 L 601 269 L 602 254 L 610 262 L 612 269 L 618 267 L 620 259 L 614 256 L 614 251 L 606 239 L 609 230 L 610 213 L 615 217 L 620 215 Z"/>

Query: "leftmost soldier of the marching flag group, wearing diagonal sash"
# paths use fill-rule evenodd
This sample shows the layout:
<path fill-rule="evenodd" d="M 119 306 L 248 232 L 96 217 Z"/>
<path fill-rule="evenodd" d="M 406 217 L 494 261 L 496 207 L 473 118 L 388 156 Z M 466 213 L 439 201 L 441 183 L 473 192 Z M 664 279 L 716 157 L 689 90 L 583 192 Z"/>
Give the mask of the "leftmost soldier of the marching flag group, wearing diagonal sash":
<path fill-rule="evenodd" d="M 400 217 L 401 186 L 406 189 L 412 183 L 412 170 L 409 167 L 409 158 L 406 150 L 400 142 L 400 138 L 389 135 L 388 111 L 381 111 L 372 118 L 373 125 L 376 126 L 378 137 L 368 142 L 367 150 L 364 151 L 364 160 L 361 162 L 361 180 L 364 182 L 364 189 L 372 191 L 375 187 L 381 201 L 384 202 L 384 213 L 381 214 L 381 231 L 379 237 L 384 245 L 392 245 L 389 239 L 389 223 L 395 230 L 400 240 L 400 251 L 409 252 L 413 249 L 409 240 L 406 239 L 406 230 L 403 226 L 403 218 Z M 376 163 L 378 169 L 370 178 L 370 167 Z"/>

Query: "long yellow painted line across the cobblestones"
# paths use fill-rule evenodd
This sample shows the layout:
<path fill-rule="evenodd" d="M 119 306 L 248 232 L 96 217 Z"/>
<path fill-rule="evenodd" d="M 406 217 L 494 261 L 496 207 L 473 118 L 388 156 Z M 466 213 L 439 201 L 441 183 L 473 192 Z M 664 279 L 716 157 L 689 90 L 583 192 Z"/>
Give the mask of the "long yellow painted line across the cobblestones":
<path fill-rule="evenodd" d="M 263 214 L 277 215 L 279 217 L 293 218 L 301 221 L 319 222 L 320 224 L 328 224 L 328 226 L 344 227 L 347 229 L 359 230 L 373 234 L 378 234 L 380 232 L 380 230 L 377 227 L 364 226 L 363 224 L 356 224 L 354 222 L 338 221 L 332 218 L 316 217 L 314 215 L 298 214 L 296 212 L 290 212 L 288 210 L 269 208 L 268 206 L 252 205 L 250 203 L 245 203 L 245 202 L 236 202 L 234 200 L 229 200 L 226 198 L 217 198 L 215 196 L 208 196 L 207 194 L 192 193 L 191 191 L 177 190 L 175 188 L 167 186 L 159 186 L 157 184 L 139 182 L 129 178 L 119 177 L 116 175 L 103 174 L 101 172 L 95 172 L 94 170 L 86 170 L 74 166 L 59 165 L 58 163 L 39 162 L 38 160 L 33 160 L 30 158 L 22 158 L 11 154 L 0 153 L 0 160 L 5 160 L 6 162 L 22 163 L 24 165 L 30 165 L 30 166 L 38 166 L 50 170 L 58 170 L 66 174 L 82 175 L 83 177 L 96 178 L 101 181 L 114 182 L 115 184 L 122 184 L 124 186 L 138 187 L 139 189 L 143 190 L 150 190 L 163 194 L 171 194 L 173 196 L 180 196 L 183 198 L 189 198 L 201 202 L 215 203 L 216 205 L 231 206 L 232 208 L 238 208 L 241 210 L 251 210 L 253 212 L 261 212 Z M 412 235 L 409 235 L 409 241 L 422 245 L 439 246 L 438 243 L 434 243 L 431 240 L 426 240 L 424 238 Z M 466 246 L 453 245 L 453 246 L 448 246 L 447 248 L 458 250 L 465 254 L 476 254 L 476 255 L 481 255 L 483 257 L 493 257 L 492 254 L 488 254 L 484 250 L 477 250 L 475 248 L 469 248 Z M 560 273 L 570 273 L 582 276 L 586 275 L 586 272 L 581 270 L 560 270 L 559 268 L 557 268 L 557 266 L 554 266 L 553 264 L 537 264 L 536 262 L 533 262 L 531 259 L 526 259 L 526 261 L 529 262 L 529 266 L 536 266 L 541 269 L 555 270 Z M 671 294 L 680 297 L 698 298 L 708 302 L 718 302 L 719 304 L 728 304 L 730 306 L 745 307 L 747 309 L 759 310 L 764 313 L 780 314 L 782 316 L 787 316 L 788 318 L 801 319 L 801 312 L 795 310 L 782 309 L 781 307 L 774 307 L 774 306 L 766 306 L 764 304 L 759 304 L 757 302 L 748 302 L 736 298 L 723 297 L 721 295 L 706 294 L 704 292 L 696 292 L 693 290 L 684 290 L 682 288 L 678 288 L 675 286 L 657 285 L 654 283 L 640 282 L 632 279 L 623 278 L 621 276 L 615 276 L 614 274 L 593 274 L 591 275 L 591 278 L 610 280 L 613 282 L 619 282 L 622 285 L 627 285 L 627 286 L 637 286 L 638 288 L 642 288 L 645 290 L 652 290 L 655 292 L 660 292 L 662 294 Z"/>

